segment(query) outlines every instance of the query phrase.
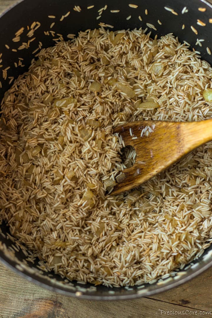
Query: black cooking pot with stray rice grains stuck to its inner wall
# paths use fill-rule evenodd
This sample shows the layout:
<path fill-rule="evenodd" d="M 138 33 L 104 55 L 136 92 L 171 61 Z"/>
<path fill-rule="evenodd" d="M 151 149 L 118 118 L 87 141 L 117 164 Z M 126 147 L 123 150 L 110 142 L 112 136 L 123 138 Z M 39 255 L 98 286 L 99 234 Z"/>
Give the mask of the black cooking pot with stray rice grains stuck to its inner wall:
<path fill-rule="evenodd" d="M 158 34 L 165 35 L 173 32 L 175 36 L 179 37 L 181 42 L 187 41 L 191 45 L 191 49 L 199 51 L 202 59 L 205 59 L 212 64 L 212 55 L 209 55 L 209 49 L 212 50 L 212 40 L 210 35 L 212 34 L 212 24 L 209 23 L 209 19 L 212 18 L 212 5 L 206 1 L 200 0 L 133 0 L 134 4 L 138 5 L 137 9 L 128 6 L 129 1 L 123 0 L 120 3 L 114 3 L 113 0 L 99 3 L 99 0 L 79 0 L 71 3 L 70 0 L 23 0 L 17 5 L 7 10 L 0 17 L 0 30 L 2 30 L 1 49 L 2 52 L 2 69 L 10 66 L 7 70 L 7 79 L 2 78 L 2 72 L 0 73 L 0 80 L 2 88 L 0 89 L 0 97 L 2 98 L 5 91 L 7 91 L 11 84 L 9 84 L 11 78 L 17 78 L 18 75 L 27 71 L 31 59 L 36 53 L 34 50 L 38 48 L 39 41 L 42 42 L 42 48 L 54 45 L 51 35 L 45 35 L 44 31 L 51 30 L 50 24 L 55 22 L 55 26 L 52 30 L 56 33 L 62 34 L 65 40 L 67 34 L 77 34 L 80 30 L 94 29 L 99 27 L 99 23 L 106 23 L 113 25 L 114 30 L 121 29 L 134 29 L 142 27 L 145 29 L 147 23 L 151 23 L 157 29 L 149 29 L 153 35 Z M 98 10 L 103 8 L 107 4 L 107 9 L 103 11 L 101 17 Z M 75 5 L 79 5 L 81 12 L 73 10 Z M 94 5 L 94 8 L 87 9 L 87 6 Z M 188 12 L 184 14 L 181 10 L 184 7 L 188 8 Z M 164 7 L 174 9 L 174 12 L 166 10 Z M 200 8 L 205 8 L 202 10 Z M 119 9 L 119 13 L 111 13 L 110 10 Z M 145 14 L 145 9 L 148 10 L 148 14 Z M 60 18 L 68 11 L 70 14 L 62 21 Z M 147 12 L 146 12 L 147 13 Z M 55 15 L 55 19 L 51 19 L 48 15 Z M 130 19 L 126 19 L 131 16 Z M 138 18 L 142 17 L 142 21 Z M 197 19 L 203 21 L 205 26 L 197 24 Z M 158 20 L 162 24 L 158 23 Z M 29 28 L 34 21 L 38 21 L 41 25 L 35 31 L 36 37 L 30 43 L 27 49 L 18 49 L 22 42 L 27 43 L 31 38 L 27 37 L 27 25 Z M 185 28 L 182 29 L 182 25 L 185 24 Z M 39 25 L 39 24 L 37 24 Z M 198 34 L 192 31 L 193 26 Z M 21 41 L 14 42 L 12 39 L 15 37 L 15 32 L 21 27 L 24 27 L 24 32 L 21 35 Z M 204 39 L 202 47 L 196 46 L 196 39 Z M 5 46 L 8 45 L 9 49 Z M 12 51 L 17 49 L 17 52 Z M 18 63 L 21 59 L 22 66 L 15 67 L 14 62 Z M 107 288 L 104 286 L 97 286 L 96 289 L 91 284 L 80 285 L 77 282 L 65 283 L 64 280 L 54 273 L 46 273 L 37 268 L 38 260 L 35 264 L 27 262 L 26 256 L 22 251 L 16 251 L 14 249 L 15 241 L 8 234 L 8 227 L 6 224 L 1 225 L 0 233 L 0 261 L 14 270 L 16 273 L 21 274 L 26 279 L 37 283 L 38 285 L 48 288 L 52 291 L 65 294 L 67 296 L 78 296 L 84 299 L 92 300 L 115 300 L 115 299 L 132 299 L 141 296 L 147 296 L 165 291 L 169 288 L 178 286 L 183 282 L 195 277 L 199 273 L 209 268 L 212 265 L 212 246 L 210 246 L 202 256 L 193 261 L 190 265 L 186 266 L 183 271 L 179 271 L 173 277 L 168 278 L 153 284 L 146 284 L 144 287 L 130 287 L 130 288 Z"/>

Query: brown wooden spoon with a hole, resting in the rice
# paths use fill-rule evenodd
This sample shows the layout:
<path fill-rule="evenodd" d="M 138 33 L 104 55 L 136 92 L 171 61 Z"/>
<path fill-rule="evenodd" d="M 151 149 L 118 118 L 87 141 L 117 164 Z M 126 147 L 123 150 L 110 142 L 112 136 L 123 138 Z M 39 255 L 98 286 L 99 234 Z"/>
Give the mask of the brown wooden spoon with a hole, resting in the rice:
<path fill-rule="evenodd" d="M 146 126 L 153 132 L 141 137 Z M 212 140 L 212 119 L 195 122 L 133 121 L 116 127 L 113 132 L 121 135 L 125 146 L 133 146 L 137 154 L 133 167 L 123 171 L 125 179 L 112 191 L 112 194 L 119 194 L 144 183 Z"/>

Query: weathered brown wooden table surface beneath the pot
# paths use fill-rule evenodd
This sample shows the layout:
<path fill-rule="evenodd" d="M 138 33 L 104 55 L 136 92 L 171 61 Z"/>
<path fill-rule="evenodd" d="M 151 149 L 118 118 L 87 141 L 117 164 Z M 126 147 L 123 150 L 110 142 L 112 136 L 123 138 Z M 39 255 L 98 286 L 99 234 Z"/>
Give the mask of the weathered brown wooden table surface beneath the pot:
<path fill-rule="evenodd" d="M 0 12 L 16 0 L 0 0 Z M 212 0 L 211 0 L 212 2 Z M 129 301 L 85 301 L 47 291 L 0 263 L 0 318 L 154 318 L 212 315 L 212 268 L 165 293 Z M 166 311 L 166 312 L 165 312 Z M 174 311 L 175 315 L 167 311 Z M 184 315 L 183 315 L 184 311 Z"/>

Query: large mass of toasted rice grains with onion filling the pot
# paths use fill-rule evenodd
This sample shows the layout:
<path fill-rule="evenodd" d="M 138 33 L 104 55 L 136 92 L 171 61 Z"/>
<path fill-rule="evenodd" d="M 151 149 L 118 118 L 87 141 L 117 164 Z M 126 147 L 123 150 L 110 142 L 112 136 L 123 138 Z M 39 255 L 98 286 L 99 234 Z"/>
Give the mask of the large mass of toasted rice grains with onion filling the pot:
<path fill-rule="evenodd" d="M 96 285 L 154 282 L 200 256 L 212 236 L 212 142 L 138 189 L 112 196 L 104 185 L 136 157 L 128 149 L 121 162 L 113 127 L 211 118 L 202 97 L 211 72 L 172 34 L 153 44 L 141 29 L 87 30 L 42 49 L 2 104 L 0 205 L 11 235 L 47 270 Z M 160 107 L 135 106 L 150 99 Z"/>

